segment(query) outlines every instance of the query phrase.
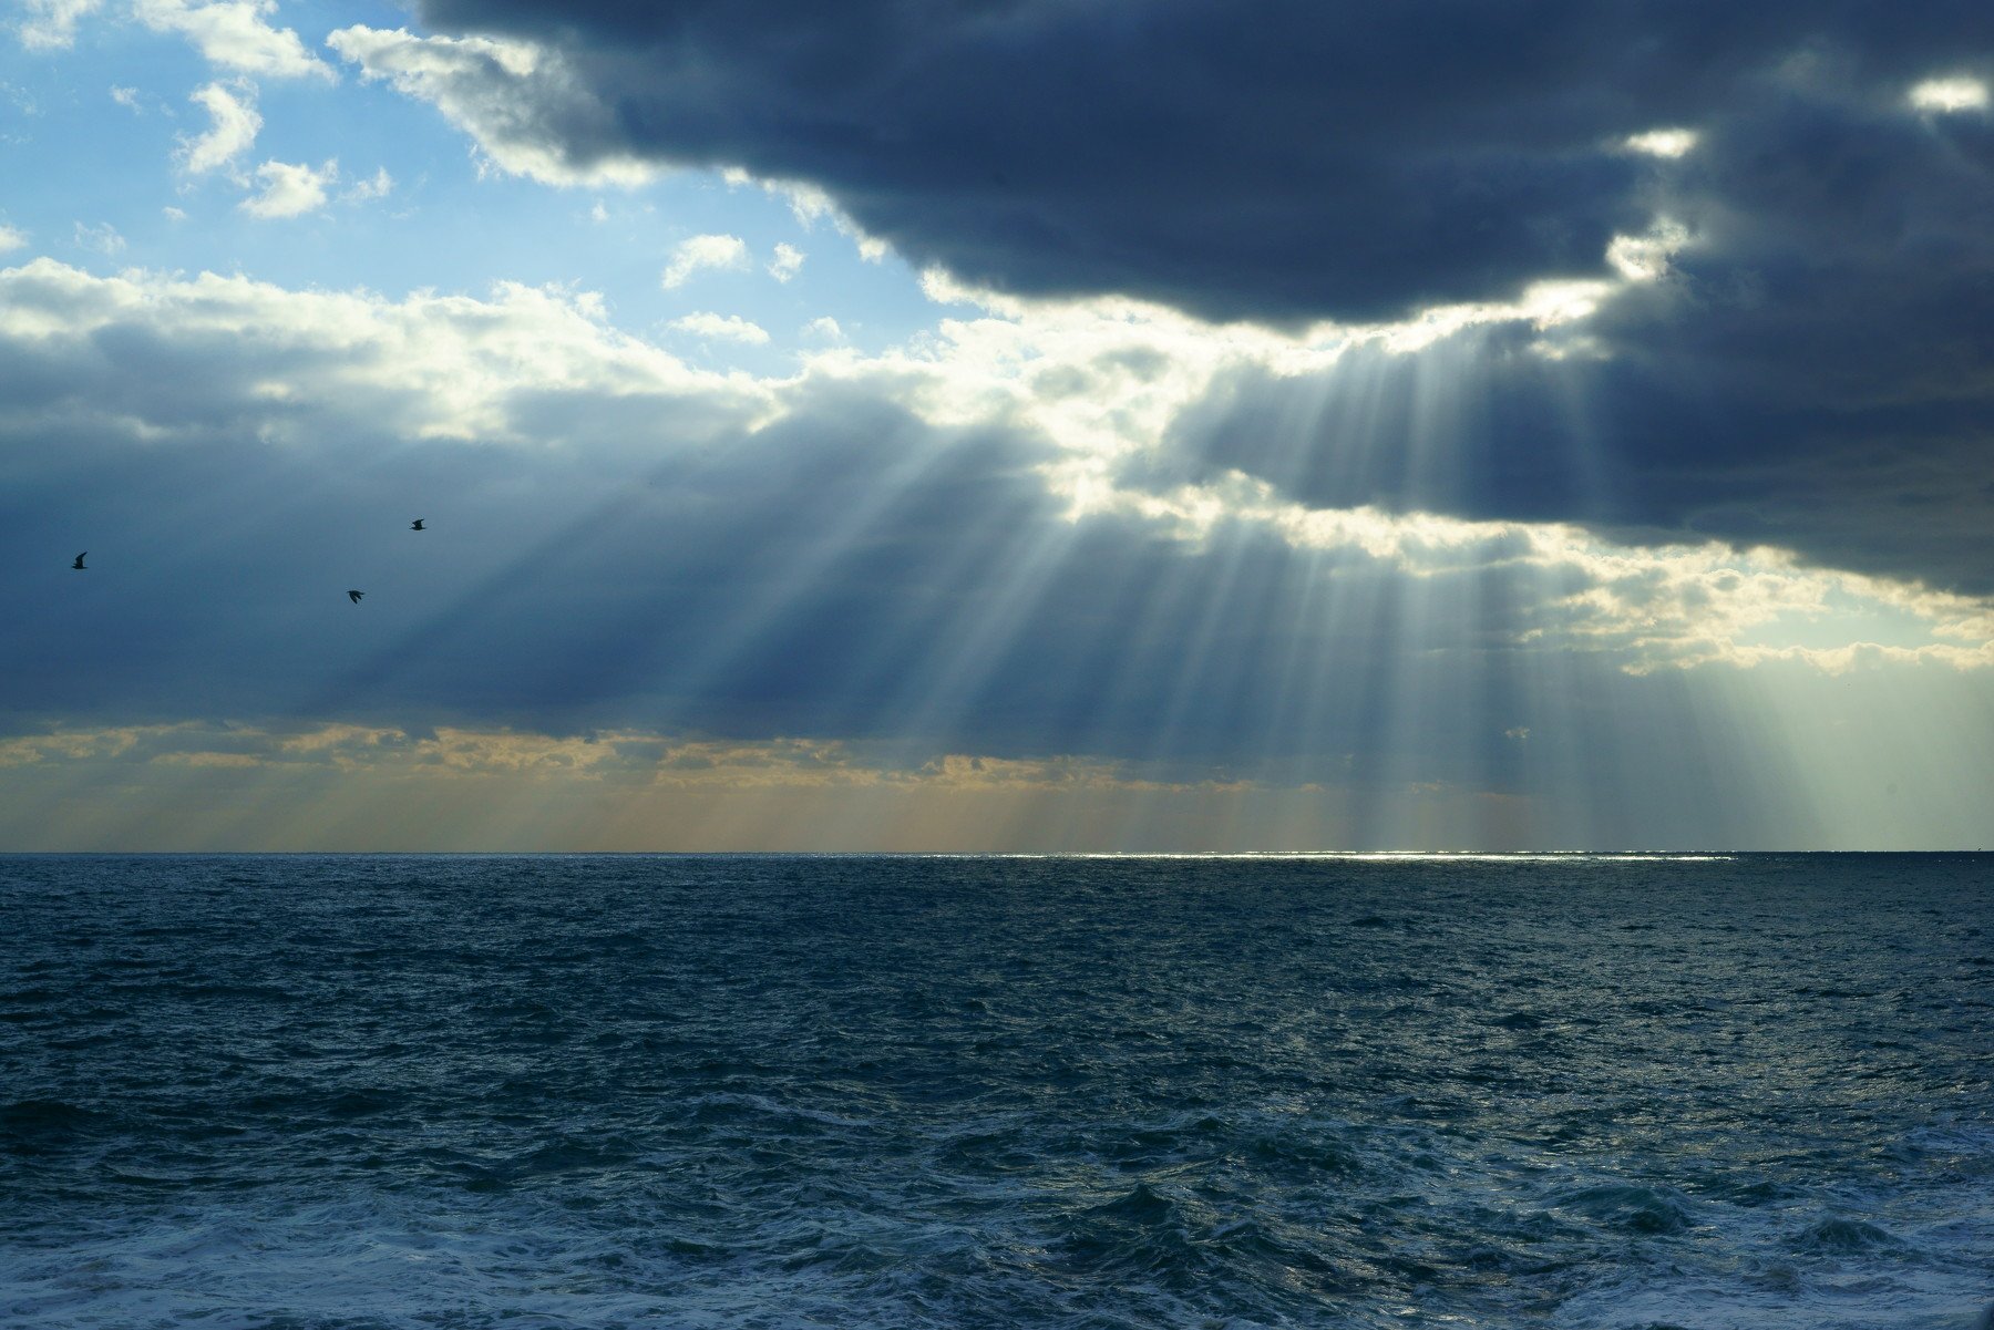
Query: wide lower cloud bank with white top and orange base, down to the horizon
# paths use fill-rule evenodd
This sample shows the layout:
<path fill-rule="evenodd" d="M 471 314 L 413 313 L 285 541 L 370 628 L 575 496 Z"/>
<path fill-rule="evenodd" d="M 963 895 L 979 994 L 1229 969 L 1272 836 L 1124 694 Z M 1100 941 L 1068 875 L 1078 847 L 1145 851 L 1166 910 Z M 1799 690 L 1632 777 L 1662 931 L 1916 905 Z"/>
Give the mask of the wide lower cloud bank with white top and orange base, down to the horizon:
<path fill-rule="evenodd" d="M 1795 843 L 1886 776 L 1930 796 L 1918 828 L 1970 833 L 1946 792 L 1978 788 L 1956 776 L 1990 724 L 1984 602 L 1306 508 L 1238 473 L 1089 489 L 1153 409 L 1103 385 L 1200 399 L 1166 369 L 1198 325 L 1097 319 L 991 315 L 752 379 L 558 289 L 0 269 L 10 843 L 44 843 L 36 820 L 166 843 L 120 839 L 132 808 L 231 843 L 197 810 L 237 778 L 293 814 L 313 790 L 431 810 L 463 843 L 493 800 L 644 843 L 716 754 L 712 820 L 648 843 L 997 843 L 971 831 L 1033 818 L 1047 843 L 1228 843 L 1170 816 L 1234 818 L 1238 843 Z M 1220 359 L 1326 355 L 1234 337 Z M 1862 728 L 1815 734 L 1836 708 Z M 1809 744 L 1844 784 L 1785 770 Z M 784 794 L 728 802 L 742 762 Z M 604 800 L 622 822 L 588 824 Z M 345 843 L 327 826 L 283 835 Z"/>

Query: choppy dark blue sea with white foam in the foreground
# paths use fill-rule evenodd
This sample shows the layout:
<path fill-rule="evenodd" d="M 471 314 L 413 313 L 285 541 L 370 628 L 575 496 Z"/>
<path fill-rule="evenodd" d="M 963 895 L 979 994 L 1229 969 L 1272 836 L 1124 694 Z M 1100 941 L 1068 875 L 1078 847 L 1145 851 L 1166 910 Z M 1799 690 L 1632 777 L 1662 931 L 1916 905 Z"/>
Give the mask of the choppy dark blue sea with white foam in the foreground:
<path fill-rule="evenodd" d="M 6 1326 L 1964 1328 L 1994 859 L 0 859 Z"/>

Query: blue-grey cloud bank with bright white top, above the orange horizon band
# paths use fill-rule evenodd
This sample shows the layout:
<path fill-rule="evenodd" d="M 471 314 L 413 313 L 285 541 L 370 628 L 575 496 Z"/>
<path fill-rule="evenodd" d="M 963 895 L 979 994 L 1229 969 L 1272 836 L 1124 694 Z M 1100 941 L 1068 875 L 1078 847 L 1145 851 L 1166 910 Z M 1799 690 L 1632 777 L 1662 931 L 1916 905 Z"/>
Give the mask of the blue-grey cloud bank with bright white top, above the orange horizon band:
<path fill-rule="evenodd" d="M 752 736 L 925 718 L 923 740 L 969 726 L 989 752 L 1260 752 L 1268 708 L 1314 692 L 1280 678 L 1298 660 L 1366 674 L 1440 652 L 1499 674 L 1547 642 L 1607 672 L 1751 664 L 1781 648 L 1755 634 L 1848 608 L 1862 636 L 1799 658 L 1844 670 L 1868 640 L 1972 670 L 1994 638 L 1980 602 L 1777 552 L 1308 508 L 1240 473 L 1101 489 L 1103 465 L 1135 465 L 1113 431 L 1147 439 L 1159 411 L 1109 375 L 1161 393 L 1164 421 L 1172 393 L 1182 417 L 1210 399 L 1161 371 L 1194 325 L 989 317 L 923 355 L 831 349 L 750 379 L 564 291 L 387 301 L 38 259 L 0 293 L 12 556 L 78 544 L 102 574 L 64 554 L 8 592 L 36 626 L 10 658 L 36 680 L 8 700 L 20 716 L 98 696 Z M 413 516 L 433 534 L 405 532 Z M 1392 590 L 1406 578 L 1416 596 Z M 1380 636 L 1374 614 L 1422 600 Z M 132 624 L 179 666 L 142 668 Z M 70 632 L 134 672 L 108 688 L 30 646 Z"/>

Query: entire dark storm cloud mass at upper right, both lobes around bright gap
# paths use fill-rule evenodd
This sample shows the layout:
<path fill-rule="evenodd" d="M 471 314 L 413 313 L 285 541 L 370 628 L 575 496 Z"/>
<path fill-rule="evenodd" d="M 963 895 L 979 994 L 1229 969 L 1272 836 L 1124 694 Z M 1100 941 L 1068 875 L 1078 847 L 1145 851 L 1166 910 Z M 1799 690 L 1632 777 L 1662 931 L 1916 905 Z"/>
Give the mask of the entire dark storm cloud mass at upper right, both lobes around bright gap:
<path fill-rule="evenodd" d="M 1527 335 L 1476 333 L 1492 359 L 1464 365 L 1454 419 L 1370 419 L 1348 391 L 1372 373 L 1412 403 L 1412 369 L 1246 371 L 1157 465 L 1994 590 L 1994 116 L 1908 100 L 1994 76 L 1982 2 L 421 10 L 562 54 L 498 98 L 485 132 L 514 152 L 808 181 L 915 263 L 1015 293 L 1388 319 L 1611 277 L 1613 237 L 1667 219 L 1689 243 L 1607 301 L 1587 353 L 1545 365 Z M 487 74 L 453 96 L 491 102 Z M 1695 148 L 1627 150 L 1661 128 Z M 1310 395 L 1342 399 L 1316 435 L 1276 433 Z"/>

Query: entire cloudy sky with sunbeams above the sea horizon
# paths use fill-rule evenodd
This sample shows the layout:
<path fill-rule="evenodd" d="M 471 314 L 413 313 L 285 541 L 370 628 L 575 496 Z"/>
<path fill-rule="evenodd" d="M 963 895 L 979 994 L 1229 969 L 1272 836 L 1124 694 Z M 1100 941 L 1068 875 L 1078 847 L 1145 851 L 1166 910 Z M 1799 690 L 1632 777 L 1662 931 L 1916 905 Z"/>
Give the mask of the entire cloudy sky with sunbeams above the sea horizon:
<path fill-rule="evenodd" d="M 1986 845 L 1990 90 L 1950 0 L 10 0 L 0 849 Z"/>

